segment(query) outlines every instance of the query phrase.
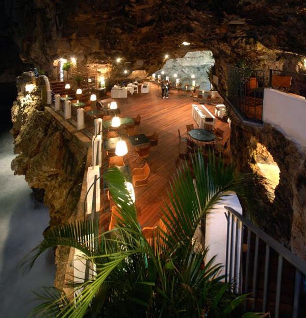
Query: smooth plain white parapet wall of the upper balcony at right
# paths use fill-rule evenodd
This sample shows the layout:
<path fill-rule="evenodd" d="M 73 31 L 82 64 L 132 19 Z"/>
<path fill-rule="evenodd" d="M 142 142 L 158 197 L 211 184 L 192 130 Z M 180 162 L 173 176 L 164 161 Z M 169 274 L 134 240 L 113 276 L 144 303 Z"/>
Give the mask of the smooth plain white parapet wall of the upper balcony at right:
<path fill-rule="evenodd" d="M 306 146 L 306 100 L 265 88 L 263 121 L 275 126 L 288 138 Z"/>

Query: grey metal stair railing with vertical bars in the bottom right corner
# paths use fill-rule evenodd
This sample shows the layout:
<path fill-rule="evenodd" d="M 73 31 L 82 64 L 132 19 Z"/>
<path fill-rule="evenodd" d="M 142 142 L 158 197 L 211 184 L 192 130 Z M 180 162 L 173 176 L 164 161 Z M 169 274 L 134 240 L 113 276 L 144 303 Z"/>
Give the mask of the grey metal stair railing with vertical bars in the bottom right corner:
<path fill-rule="evenodd" d="M 225 209 L 225 275 L 235 292 L 250 293 L 245 309 L 275 318 L 305 317 L 306 261 L 231 207 Z"/>

